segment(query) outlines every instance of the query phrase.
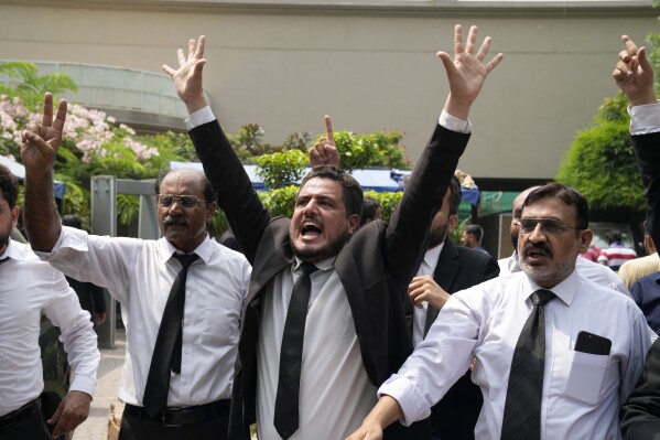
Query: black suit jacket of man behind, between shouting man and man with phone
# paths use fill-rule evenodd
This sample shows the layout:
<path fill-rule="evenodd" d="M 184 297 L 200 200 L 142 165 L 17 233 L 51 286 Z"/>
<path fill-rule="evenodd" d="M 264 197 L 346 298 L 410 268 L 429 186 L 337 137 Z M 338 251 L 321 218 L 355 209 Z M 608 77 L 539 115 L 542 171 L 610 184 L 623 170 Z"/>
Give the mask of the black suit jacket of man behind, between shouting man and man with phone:
<path fill-rule="evenodd" d="M 433 280 L 445 292 L 456 293 L 497 276 L 499 276 L 499 266 L 488 254 L 464 246 L 456 246 L 451 238 L 446 238 L 437 258 Z M 407 312 L 410 313 L 409 329 L 412 335 L 413 308 L 410 301 L 407 305 Z M 424 336 L 429 333 L 429 329 L 437 318 L 437 313 L 440 313 L 437 309 L 429 305 Z M 470 372 L 467 372 L 432 408 L 431 426 L 433 434 L 442 440 L 474 439 L 474 430 L 483 403 L 482 390 L 473 384 Z"/>

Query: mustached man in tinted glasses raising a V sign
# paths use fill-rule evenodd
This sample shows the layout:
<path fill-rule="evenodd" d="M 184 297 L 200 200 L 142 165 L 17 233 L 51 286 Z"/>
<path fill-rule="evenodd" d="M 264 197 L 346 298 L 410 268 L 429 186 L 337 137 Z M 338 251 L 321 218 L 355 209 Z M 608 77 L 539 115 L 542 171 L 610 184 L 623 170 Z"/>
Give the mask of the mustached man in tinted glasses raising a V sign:
<path fill-rule="evenodd" d="M 127 353 L 119 438 L 225 439 L 250 266 L 209 239 L 216 203 L 195 170 L 166 171 L 155 181 L 159 240 L 63 227 L 52 179 L 66 107 L 61 100 L 52 121 L 53 96 L 46 94 L 50 119 L 23 133 L 26 228 L 42 259 L 107 288 L 121 303 Z"/>

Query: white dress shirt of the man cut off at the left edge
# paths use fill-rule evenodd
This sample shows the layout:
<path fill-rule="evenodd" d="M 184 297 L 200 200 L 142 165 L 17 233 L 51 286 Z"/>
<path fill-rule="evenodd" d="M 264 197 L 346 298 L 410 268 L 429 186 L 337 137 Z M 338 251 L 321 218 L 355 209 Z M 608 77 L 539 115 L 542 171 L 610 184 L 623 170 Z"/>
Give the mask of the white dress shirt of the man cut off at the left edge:
<path fill-rule="evenodd" d="M 0 259 L 0 416 L 39 397 L 44 387 L 41 313 L 58 326 L 74 372 L 69 389 L 94 395 L 100 354 L 89 313 L 64 275 L 40 261 L 30 246 L 9 239 Z"/>

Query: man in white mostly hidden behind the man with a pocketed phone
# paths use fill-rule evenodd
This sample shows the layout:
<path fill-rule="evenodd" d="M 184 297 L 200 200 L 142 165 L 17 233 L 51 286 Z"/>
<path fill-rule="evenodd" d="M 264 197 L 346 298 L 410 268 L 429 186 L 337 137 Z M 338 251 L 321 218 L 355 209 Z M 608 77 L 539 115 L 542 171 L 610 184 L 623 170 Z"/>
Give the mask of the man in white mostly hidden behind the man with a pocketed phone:
<path fill-rule="evenodd" d="M 511 272 L 519 272 L 521 270 L 518 261 L 518 235 L 519 235 L 519 222 L 520 215 L 522 214 L 522 202 L 533 190 L 539 186 L 532 186 L 520 194 L 513 200 L 511 206 L 511 244 L 513 245 L 513 255 L 507 258 L 500 258 L 497 264 L 499 265 L 499 275 L 508 275 Z M 630 297 L 630 291 L 626 287 L 626 283 L 610 269 L 597 262 L 589 261 L 585 258 L 575 259 L 575 270 L 586 279 L 589 279 L 601 286 L 608 287 L 614 290 Z"/>

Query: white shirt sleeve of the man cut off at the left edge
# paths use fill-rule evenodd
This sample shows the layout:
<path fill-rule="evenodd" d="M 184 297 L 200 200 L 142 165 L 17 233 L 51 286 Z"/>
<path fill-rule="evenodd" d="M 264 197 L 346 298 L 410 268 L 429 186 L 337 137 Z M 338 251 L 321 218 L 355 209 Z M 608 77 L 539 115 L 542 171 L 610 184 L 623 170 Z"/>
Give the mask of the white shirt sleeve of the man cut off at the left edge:
<path fill-rule="evenodd" d="M 94 396 L 100 353 L 89 313 L 80 308 L 76 292 L 68 286 L 64 275 L 55 269 L 52 292 L 53 297 L 44 312 L 62 332 L 59 340 L 74 372 L 69 390 Z"/>

